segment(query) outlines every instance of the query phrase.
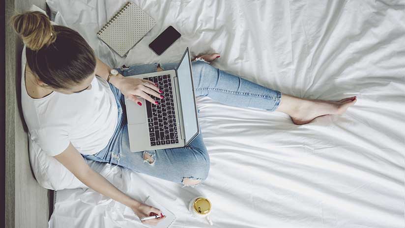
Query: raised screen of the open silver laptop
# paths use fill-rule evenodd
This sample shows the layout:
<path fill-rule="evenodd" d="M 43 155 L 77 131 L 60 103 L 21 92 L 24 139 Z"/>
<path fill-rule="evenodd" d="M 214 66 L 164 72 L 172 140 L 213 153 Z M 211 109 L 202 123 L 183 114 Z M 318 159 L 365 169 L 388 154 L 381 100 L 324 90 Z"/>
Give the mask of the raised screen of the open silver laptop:
<path fill-rule="evenodd" d="M 188 145 L 199 133 L 193 76 L 188 48 L 177 67 L 181 109 L 183 110 L 184 136 Z"/>

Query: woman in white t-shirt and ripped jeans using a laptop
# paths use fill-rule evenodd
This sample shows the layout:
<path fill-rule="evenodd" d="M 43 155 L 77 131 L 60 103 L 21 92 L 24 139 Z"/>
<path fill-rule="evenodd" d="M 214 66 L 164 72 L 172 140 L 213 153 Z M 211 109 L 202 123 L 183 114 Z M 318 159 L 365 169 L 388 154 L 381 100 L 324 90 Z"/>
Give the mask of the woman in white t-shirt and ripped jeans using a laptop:
<path fill-rule="evenodd" d="M 125 76 L 170 70 L 175 64 L 133 66 L 117 69 L 120 74 L 111 76 L 111 68 L 95 57 L 79 33 L 51 25 L 46 15 L 17 14 L 11 23 L 26 45 L 22 59 L 24 117 L 30 140 L 42 151 L 88 187 L 132 208 L 138 217 L 161 211 L 119 191 L 83 157 L 186 186 L 196 186 L 207 177 L 209 156 L 201 134 L 184 148 L 144 153 L 129 150 L 124 99 L 143 105 L 137 98 L 142 97 L 159 105 L 163 93 L 151 81 Z M 206 61 L 213 61 L 218 54 L 200 57 L 192 63 L 196 95 L 228 105 L 281 111 L 301 125 L 318 116 L 342 114 L 356 102 L 356 97 L 319 101 L 282 94 L 213 68 Z M 162 219 L 144 223 L 153 225 Z"/>

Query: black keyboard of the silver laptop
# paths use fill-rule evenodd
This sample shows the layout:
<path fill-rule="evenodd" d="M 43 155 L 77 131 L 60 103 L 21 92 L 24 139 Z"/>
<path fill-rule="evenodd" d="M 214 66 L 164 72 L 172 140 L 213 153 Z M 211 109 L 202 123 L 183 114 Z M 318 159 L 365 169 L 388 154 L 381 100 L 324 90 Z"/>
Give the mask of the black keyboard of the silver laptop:
<path fill-rule="evenodd" d="M 147 122 L 149 126 L 150 146 L 161 146 L 178 143 L 177 123 L 174 112 L 172 79 L 170 75 L 145 77 L 159 85 L 163 99 L 159 104 L 146 103 Z"/>

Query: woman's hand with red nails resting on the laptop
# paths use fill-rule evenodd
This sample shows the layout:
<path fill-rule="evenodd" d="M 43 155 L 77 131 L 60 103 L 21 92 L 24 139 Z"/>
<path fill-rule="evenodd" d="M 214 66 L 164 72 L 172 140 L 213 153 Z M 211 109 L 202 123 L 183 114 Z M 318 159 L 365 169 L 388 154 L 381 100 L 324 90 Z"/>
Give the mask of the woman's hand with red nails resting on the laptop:
<path fill-rule="evenodd" d="M 163 98 L 163 96 L 160 95 L 163 93 L 163 91 L 161 91 L 153 81 L 142 78 L 124 77 L 120 75 L 119 81 L 116 84 L 116 87 L 121 91 L 125 98 L 134 101 L 139 105 L 142 105 L 139 97 L 144 98 L 146 101 L 153 104 L 158 104 L 158 102 L 149 95 L 152 95 L 158 99 Z"/>

